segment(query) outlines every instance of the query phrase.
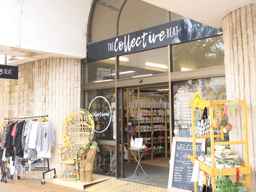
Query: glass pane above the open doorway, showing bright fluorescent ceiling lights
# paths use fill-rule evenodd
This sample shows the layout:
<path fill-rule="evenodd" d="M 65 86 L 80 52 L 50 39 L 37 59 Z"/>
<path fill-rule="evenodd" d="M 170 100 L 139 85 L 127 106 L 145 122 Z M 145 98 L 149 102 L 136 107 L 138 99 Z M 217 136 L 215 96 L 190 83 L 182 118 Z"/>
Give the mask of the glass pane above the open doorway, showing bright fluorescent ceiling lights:
<path fill-rule="evenodd" d="M 168 48 L 147 50 L 119 57 L 119 78 L 168 73 Z"/>

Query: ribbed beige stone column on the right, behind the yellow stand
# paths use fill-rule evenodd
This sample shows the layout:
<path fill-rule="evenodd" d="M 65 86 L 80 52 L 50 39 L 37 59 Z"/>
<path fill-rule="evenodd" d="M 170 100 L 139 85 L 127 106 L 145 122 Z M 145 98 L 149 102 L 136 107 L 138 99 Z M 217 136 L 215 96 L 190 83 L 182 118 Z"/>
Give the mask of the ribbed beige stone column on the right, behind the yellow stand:
<path fill-rule="evenodd" d="M 251 186 L 255 191 L 256 164 L 256 3 L 226 15 L 222 23 L 227 99 L 247 100 L 249 161 L 252 167 Z M 233 125 L 230 141 L 244 140 L 243 109 L 238 107 L 230 116 Z M 243 145 L 231 146 L 245 162 Z M 241 178 L 243 180 L 243 178 Z M 246 179 L 246 176 L 245 178 Z"/>

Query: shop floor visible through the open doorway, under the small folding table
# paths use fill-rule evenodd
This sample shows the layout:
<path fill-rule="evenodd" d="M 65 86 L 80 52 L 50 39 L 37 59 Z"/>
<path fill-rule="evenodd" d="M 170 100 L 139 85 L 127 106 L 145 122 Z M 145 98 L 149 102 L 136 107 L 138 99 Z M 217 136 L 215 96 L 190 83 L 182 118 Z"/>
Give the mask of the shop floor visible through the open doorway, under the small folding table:
<path fill-rule="evenodd" d="M 169 178 L 169 169 L 161 166 L 147 165 L 141 164 L 141 167 L 147 174 L 145 176 L 144 172 L 139 166 L 138 176 L 137 171 L 134 175 L 134 179 L 132 178 L 134 171 L 137 167 L 138 163 L 134 162 L 124 162 L 124 179 L 129 181 L 147 183 L 152 185 L 158 185 L 162 187 L 168 187 L 168 178 Z"/>

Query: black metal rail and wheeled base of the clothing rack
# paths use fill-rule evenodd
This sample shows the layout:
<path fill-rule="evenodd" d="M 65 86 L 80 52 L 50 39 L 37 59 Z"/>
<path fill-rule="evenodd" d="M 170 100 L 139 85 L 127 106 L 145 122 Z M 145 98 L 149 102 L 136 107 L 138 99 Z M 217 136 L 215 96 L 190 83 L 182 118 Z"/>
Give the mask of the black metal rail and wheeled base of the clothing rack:
<path fill-rule="evenodd" d="M 28 119 L 28 118 L 38 118 L 38 117 L 48 117 L 48 115 L 12 117 L 12 118 L 4 118 L 4 120 Z M 31 169 L 31 171 L 45 171 L 45 172 L 43 172 L 43 180 L 41 181 L 41 184 L 42 184 L 42 185 L 45 184 L 45 181 L 44 181 L 44 174 L 45 174 L 45 173 L 54 170 L 54 176 L 53 176 L 53 178 L 56 178 L 56 177 L 57 177 L 57 176 L 56 176 L 56 170 L 55 170 L 55 168 L 50 170 L 49 158 L 46 158 L 46 159 L 47 159 L 47 167 L 35 167 L 34 169 Z M 29 170 L 29 167 L 25 167 L 25 170 L 28 171 L 28 170 Z M 13 176 L 12 176 L 12 177 L 13 177 Z M 18 179 L 20 179 L 20 176 L 18 176 Z M 6 182 L 5 182 L 5 183 L 6 183 Z"/>

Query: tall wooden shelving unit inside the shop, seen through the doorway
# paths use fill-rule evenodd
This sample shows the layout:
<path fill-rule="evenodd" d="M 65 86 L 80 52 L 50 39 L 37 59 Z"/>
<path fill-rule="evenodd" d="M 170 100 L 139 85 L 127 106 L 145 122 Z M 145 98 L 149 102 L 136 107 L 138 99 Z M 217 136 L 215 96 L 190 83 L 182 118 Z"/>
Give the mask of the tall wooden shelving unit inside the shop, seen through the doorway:
<path fill-rule="evenodd" d="M 129 93 L 129 90 L 131 90 L 131 92 Z M 137 90 L 137 93 L 133 93 L 134 90 Z M 143 156 L 149 156 L 151 157 L 151 159 L 154 158 L 154 154 L 161 154 L 164 155 L 165 157 L 167 157 L 170 153 L 168 153 L 169 151 L 168 150 L 168 145 L 170 146 L 170 142 L 167 141 L 167 136 L 169 136 L 170 134 L 167 133 L 167 125 L 169 125 L 169 122 L 167 122 L 167 108 L 145 108 L 145 107 L 140 107 L 140 101 L 148 101 L 148 102 L 159 102 L 159 97 L 160 96 L 151 96 L 151 95 L 145 95 L 145 94 L 140 94 L 140 91 L 142 90 L 145 90 L 145 89 L 140 89 L 140 88 L 127 88 L 126 89 L 126 113 L 127 113 L 127 123 L 131 120 L 131 114 L 130 114 L 130 111 L 131 109 L 133 109 L 135 111 L 135 114 L 134 114 L 134 119 L 136 120 L 136 114 L 137 114 L 137 111 L 140 111 L 142 109 L 146 109 L 146 110 L 150 110 L 151 111 L 151 115 L 142 115 L 143 117 L 149 117 L 151 119 L 151 123 L 141 123 L 140 121 L 138 121 L 136 123 L 136 126 L 135 128 L 138 128 L 138 132 L 137 134 L 135 135 L 135 137 L 133 136 L 133 138 L 139 138 L 141 136 L 141 133 L 144 133 L 144 137 L 151 137 L 151 143 L 146 143 L 145 145 L 149 148 L 151 147 L 152 148 L 152 151 L 150 154 L 143 154 Z M 168 102 L 168 91 L 155 91 L 155 90 L 147 90 L 147 91 L 151 91 L 151 92 L 148 92 L 148 93 L 163 93 L 163 102 Z M 133 101 L 137 101 L 138 105 L 137 107 L 129 107 L 131 106 L 131 102 Z M 154 115 L 154 110 L 164 110 L 164 115 Z M 159 123 L 153 123 L 153 117 L 155 116 L 163 116 L 165 118 L 165 122 L 159 122 Z M 153 131 L 153 126 L 154 125 L 165 125 L 165 130 L 159 130 L 159 131 Z M 141 131 L 140 130 L 140 127 L 141 125 L 150 125 L 152 127 L 152 131 Z M 128 126 L 127 124 L 127 129 L 129 129 L 130 126 Z M 170 127 L 170 126 L 169 126 Z M 158 135 L 159 136 L 164 136 L 165 137 L 165 141 L 164 142 L 156 142 L 156 143 L 153 143 L 153 133 L 155 132 L 158 132 Z M 128 135 L 128 133 L 126 133 L 127 135 L 127 149 L 129 149 L 129 146 L 130 146 L 130 139 L 131 139 L 131 136 Z M 163 147 L 165 147 L 165 150 L 162 151 L 162 152 L 158 152 L 158 153 L 153 153 L 153 146 L 156 145 L 162 145 Z M 136 162 L 136 160 L 134 159 L 134 157 L 132 158 L 131 157 L 131 153 L 130 153 L 130 150 L 127 150 L 128 151 L 128 161 L 129 162 Z M 137 153 L 137 151 L 135 151 L 135 157 L 139 156 L 140 158 L 140 154 Z"/>

